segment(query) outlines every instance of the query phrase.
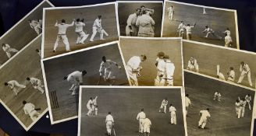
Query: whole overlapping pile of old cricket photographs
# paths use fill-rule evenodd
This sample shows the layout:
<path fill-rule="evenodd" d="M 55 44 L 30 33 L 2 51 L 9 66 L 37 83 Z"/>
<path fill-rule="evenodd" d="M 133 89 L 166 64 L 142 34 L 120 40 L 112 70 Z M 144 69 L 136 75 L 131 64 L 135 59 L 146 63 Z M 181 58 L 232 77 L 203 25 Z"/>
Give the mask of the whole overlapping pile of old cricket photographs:
<path fill-rule="evenodd" d="M 239 50 L 236 10 L 45 0 L 0 41 L 0 100 L 27 131 L 49 111 L 80 136 L 253 134 L 256 54 Z"/>

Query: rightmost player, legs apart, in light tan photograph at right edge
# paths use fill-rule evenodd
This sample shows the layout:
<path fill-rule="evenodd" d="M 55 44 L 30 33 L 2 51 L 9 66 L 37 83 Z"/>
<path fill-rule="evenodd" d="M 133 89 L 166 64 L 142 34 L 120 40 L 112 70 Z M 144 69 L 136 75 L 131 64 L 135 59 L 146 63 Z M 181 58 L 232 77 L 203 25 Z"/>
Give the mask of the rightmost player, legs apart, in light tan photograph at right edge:
<path fill-rule="evenodd" d="M 247 76 L 248 78 L 248 82 L 250 84 L 250 86 L 252 86 L 252 82 L 251 82 L 251 70 L 249 68 L 249 65 L 247 65 L 247 63 L 245 63 L 244 61 L 242 61 L 240 63 L 240 78 L 238 79 L 238 84 L 240 84 L 244 77 Z"/>

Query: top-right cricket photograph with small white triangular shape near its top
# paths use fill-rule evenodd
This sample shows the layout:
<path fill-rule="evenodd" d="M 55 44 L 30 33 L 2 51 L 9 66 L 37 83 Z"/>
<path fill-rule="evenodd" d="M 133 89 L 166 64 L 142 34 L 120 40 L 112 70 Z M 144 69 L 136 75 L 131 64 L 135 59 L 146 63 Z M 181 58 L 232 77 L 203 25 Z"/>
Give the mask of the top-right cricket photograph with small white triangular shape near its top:
<path fill-rule="evenodd" d="M 236 10 L 165 1 L 162 37 L 240 49 Z"/>

